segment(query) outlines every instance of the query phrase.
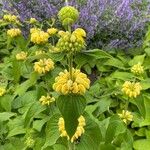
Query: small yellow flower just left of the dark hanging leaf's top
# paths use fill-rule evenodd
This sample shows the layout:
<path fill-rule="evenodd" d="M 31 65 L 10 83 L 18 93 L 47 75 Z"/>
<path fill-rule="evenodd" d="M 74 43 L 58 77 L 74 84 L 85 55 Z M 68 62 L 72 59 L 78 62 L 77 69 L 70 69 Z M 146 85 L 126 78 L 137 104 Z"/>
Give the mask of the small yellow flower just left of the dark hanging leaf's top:
<path fill-rule="evenodd" d="M 48 94 L 47 96 L 41 96 L 41 98 L 39 99 L 39 101 L 41 102 L 42 105 L 50 105 L 50 103 L 55 101 L 54 97 L 50 97 Z"/>

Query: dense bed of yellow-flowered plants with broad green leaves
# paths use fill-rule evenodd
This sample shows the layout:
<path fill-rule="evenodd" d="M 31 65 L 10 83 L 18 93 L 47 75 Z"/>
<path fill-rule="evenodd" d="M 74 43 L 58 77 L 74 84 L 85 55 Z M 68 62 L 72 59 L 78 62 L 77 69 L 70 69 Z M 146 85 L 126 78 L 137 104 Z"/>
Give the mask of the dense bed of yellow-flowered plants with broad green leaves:
<path fill-rule="evenodd" d="M 136 54 L 90 49 L 79 13 L 0 20 L 0 150 L 149 149 L 150 28 Z"/>

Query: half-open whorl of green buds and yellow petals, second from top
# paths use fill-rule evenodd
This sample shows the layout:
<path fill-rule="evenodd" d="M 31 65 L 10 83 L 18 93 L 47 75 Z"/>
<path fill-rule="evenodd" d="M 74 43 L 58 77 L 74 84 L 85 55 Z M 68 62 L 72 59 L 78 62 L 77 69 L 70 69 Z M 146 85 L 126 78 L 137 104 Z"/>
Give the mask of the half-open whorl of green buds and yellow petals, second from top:
<path fill-rule="evenodd" d="M 58 34 L 61 37 L 56 47 L 58 47 L 60 51 L 78 52 L 85 47 L 84 37 L 86 37 L 86 32 L 81 28 L 77 28 L 72 33 L 59 31 Z"/>

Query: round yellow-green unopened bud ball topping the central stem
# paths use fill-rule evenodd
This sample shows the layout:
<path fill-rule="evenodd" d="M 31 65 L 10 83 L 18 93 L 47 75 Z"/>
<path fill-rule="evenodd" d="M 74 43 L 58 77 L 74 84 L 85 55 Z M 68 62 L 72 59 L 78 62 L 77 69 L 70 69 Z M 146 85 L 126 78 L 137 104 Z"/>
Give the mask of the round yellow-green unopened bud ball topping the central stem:
<path fill-rule="evenodd" d="M 58 18 L 63 26 L 72 25 L 79 18 L 79 12 L 72 6 L 65 6 L 59 11 Z"/>

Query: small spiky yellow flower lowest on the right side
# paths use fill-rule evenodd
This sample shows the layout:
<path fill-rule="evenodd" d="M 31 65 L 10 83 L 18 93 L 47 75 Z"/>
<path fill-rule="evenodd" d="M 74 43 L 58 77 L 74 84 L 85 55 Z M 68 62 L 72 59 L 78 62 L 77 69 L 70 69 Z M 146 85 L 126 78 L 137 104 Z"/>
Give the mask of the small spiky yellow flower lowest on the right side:
<path fill-rule="evenodd" d="M 128 121 L 133 120 L 133 115 L 131 114 L 131 112 L 129 112 L 127 110 L 122 110 L 122 113 L 118 114 L 118 115 L 123 120 L 123 122 L 125 122 L 126 124 L 128 123 Z"/>

